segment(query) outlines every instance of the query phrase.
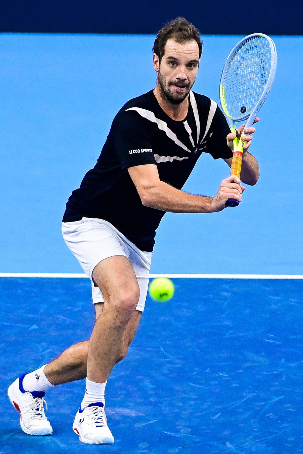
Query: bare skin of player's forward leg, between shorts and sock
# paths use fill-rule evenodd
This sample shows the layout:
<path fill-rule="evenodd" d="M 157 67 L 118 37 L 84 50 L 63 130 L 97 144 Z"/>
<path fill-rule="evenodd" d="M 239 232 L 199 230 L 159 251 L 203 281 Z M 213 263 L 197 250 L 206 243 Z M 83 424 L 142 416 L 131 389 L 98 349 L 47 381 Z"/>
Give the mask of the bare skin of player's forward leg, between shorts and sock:
<path fill-rule="evenodd" d="M 104 383 L 114 364 L 125 355 L 125 331 L 132 317 L 138 321 L 135 308 L 140 289 L 134 269 L 124 256 L 99 262 L 94 268 L 93 279 L 104 296 L 104 308 L 89 341 L 87 377 L 93 382 Z"/>

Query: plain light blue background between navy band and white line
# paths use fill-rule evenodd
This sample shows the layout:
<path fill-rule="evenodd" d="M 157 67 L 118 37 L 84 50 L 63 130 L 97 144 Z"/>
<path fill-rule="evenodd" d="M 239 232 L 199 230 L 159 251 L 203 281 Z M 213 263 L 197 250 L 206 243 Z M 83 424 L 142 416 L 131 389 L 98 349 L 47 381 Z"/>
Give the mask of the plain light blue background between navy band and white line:
<path fill-rule="evenodd" d="M 194 90 L 219 102 L 237 36 L 204 36 Z M 303 274 L 303 38 L 273 37 L 278 69 L 250 151 L 261 178 L 213 214 L 167 213 L 154 273 Z M 154 36 L 0 35 L 0 272 L 81 272 L 60 224 L 116 112 L 152 89 Z M 229 175 L 205 154 L 184 189 L 215 195 Z"/>

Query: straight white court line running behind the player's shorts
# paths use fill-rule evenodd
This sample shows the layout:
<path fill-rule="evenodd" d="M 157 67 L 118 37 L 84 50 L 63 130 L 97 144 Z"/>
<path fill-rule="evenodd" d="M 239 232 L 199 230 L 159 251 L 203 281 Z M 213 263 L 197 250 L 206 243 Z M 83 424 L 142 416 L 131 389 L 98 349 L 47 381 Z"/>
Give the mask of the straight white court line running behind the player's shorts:
<path fill-rule="evenodd" d="M 80 273 L 0 273 L 0 277 L 85 277 Z M 150 274 L 149 277 L 172 279 L 303 279 L 303 274 Z"/>

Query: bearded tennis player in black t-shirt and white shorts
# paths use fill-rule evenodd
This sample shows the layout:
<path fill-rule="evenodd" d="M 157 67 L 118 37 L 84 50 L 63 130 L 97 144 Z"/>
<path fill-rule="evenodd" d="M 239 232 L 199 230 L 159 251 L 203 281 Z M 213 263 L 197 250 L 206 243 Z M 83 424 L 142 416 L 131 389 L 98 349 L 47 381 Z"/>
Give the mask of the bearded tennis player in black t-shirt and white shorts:
<path fill-rule="evenodd" d="M 167 211 L 222 211 L 228 198 L 241 202 L 244 188 L 235 176 L 224 179 L 214 197 L 181 191 L 202 152 L 229 166 L 232 161 L 235 136 L 224 115 L 214 101 L 191 91 L 201 53 L 199 32 L 187 20 L 178 18 L 159 31 L 156 88 L 119 111 L 97 164 L 67 202 L 62 232 L 91 278 L 96 322 L 90 341 L 10 385 L 10 400 L 28 434 L 52 432 L 43 408 L 46 390 L 87 377 L 73 429 L 85 443 L 114 442 L 104 413 L 105 385 L 139 325 L 161 218 Z M 254 131 L 244 131 L 242 166 L 242 180 L 251 185 L 259 177 L 247 151 Z"/>

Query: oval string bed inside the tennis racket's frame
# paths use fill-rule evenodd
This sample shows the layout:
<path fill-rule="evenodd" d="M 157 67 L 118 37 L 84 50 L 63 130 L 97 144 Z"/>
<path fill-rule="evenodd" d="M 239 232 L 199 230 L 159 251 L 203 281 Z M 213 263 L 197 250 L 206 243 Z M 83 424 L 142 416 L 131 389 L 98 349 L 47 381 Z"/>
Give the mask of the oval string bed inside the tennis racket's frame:
<path fill-rule="evenodd" d="M 262 36 L 248 39 L 233 55 L 223 78 L 231 118 L 240 118 L 254 109 L 267 84 L 271 64 L 270 44 Z"/>

